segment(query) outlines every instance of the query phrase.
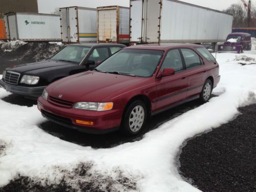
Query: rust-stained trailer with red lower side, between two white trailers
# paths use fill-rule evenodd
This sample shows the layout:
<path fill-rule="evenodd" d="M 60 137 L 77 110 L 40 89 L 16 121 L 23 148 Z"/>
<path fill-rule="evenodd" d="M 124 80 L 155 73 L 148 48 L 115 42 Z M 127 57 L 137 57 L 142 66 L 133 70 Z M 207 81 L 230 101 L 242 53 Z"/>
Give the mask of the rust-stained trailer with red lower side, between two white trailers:
<path fill-rule="evenodd" d="M 97 8 L 98 42 L 129 44 L 130 9 L 108 6 Z"/>

